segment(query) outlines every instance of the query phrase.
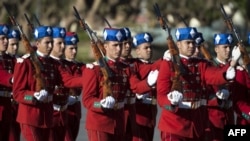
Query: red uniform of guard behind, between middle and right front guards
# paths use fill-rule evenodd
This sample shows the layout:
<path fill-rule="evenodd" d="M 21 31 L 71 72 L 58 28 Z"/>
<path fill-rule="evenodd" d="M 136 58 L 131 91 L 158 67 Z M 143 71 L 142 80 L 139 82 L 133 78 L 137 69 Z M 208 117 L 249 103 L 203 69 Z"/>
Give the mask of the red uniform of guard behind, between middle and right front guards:
<path fill-rule="evenodd" d="M 156 62 L 143 62 L 140 59 L 134 63 L 134 71 L 138 79 L 147 80 L 151 70 L 159 70 L 159 59 Z M 156 105 L 156 87 L 152 87 L 149 91 L 149 96 L 143 100 L 136 100 L 136 124 L 138 126 L 137 134 L 134 135 L 133 141 L 151 141 L 154 136 L 154 128 L 156 124 L 157 105 Z"/>

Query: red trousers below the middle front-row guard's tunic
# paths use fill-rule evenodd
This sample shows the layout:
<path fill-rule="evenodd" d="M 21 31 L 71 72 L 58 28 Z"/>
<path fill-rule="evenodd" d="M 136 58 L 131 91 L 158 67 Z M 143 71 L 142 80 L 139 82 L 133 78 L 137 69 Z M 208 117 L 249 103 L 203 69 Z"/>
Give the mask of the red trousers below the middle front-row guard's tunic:
<path fill-rule="evenodd" d="M 122 141 L 122 134 L 109 134 L 101 131 L 87 130 L 88 141 Z"/>

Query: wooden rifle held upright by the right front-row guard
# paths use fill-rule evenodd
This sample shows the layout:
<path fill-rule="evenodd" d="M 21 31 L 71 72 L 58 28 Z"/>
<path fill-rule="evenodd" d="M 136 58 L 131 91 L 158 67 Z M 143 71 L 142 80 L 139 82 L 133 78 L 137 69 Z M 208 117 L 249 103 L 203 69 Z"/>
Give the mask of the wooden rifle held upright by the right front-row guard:
<path fill-rule="evenodd" d="M 154 5 L 154 10 L 155 10 L 156 16 L 158 18 L 158 21 L 159 21 L 162 29 L 165 30 L 168 34 L 167 45 L 168 45 L 168 49 L 170 51 L 170 54 L 172 56 L 172 62 L 173 62 L 174 71 L 175 71 L 175 76 L 172 80 L 173 84 L 171 87 L 171 91 L 177 90 L 179 92 L 182 92 L 182 83 L 180 81 L 180 76 L 185 73 L 185 69 L 183 68 L 183 66 L 181 64 L 179 51 L 178 51 L 178 49 L 173 41 L 173 37 L 171 35 L 170 28 L 166 24 L 166 20 L 162 17 L 159 6 L 157 3 Z"/>

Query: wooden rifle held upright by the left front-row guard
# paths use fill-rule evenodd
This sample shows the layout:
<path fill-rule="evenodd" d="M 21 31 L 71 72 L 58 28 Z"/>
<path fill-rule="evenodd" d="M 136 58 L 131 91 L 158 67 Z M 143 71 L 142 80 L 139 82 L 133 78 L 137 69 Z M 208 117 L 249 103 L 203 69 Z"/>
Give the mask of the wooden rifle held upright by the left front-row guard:
<path fill-rule="evenodd" d="M 7 6 L 5 4 L 3 4 L 8 15 L 9 18 L 11 20 L 11 23 L 13 26 L 16 26 L 21 34 L 21 40 L 22 43 L 25 47 L 26 53 L 30 54 L 30 58 L 31 58 L 31 62 L 35 68 L 35 79 L 36 79 L 36 91 L 40 91 L 41 89 L 45 88 L 45 83 L 44 83 L 44 79 L 41 76 L 41 64 L 36 56 L 36 53 L 33 49 L 33 47 L 31 46 L 28 38 L 26 37 L 26 35 L 24 34 L 21 26 L 19 25 L 19 23 L 15 20 L 15 18 L 10 14 Z"/>

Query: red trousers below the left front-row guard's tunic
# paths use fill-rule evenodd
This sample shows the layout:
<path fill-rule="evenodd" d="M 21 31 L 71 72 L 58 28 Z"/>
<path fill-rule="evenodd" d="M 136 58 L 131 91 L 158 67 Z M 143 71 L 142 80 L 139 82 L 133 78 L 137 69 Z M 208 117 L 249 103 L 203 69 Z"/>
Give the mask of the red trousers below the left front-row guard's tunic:
<path fill-rule="evenodd" d="M 50 128 L 38 128 L 27 124 L 20 124 L 21 133 L 26 141 L 48 141 Z"/>

